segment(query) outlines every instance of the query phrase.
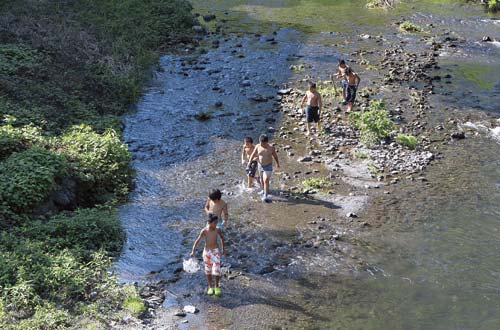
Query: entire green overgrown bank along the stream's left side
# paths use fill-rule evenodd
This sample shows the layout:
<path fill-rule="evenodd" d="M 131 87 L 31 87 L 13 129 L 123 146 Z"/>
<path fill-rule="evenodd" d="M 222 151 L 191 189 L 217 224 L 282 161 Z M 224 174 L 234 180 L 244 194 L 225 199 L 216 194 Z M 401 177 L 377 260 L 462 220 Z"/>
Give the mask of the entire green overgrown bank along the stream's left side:
<path fill-rule="evenodd" d="M 120 116 L 159 51 L 190 38 L 190 11 L 184 0 L 0 5 L 0 328 L 104 328 L 144 310 L 108 274 L 133 175 Z"/>

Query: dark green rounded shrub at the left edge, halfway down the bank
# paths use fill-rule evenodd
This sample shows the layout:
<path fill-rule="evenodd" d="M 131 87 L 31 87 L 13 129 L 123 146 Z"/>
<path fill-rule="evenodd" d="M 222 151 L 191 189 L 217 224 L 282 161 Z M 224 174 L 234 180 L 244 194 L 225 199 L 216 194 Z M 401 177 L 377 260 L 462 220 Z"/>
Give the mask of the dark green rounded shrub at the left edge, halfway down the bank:
<path fill-rule="evenodd" d="M 29 212 L 66 173 L 65 158 L 52 151 L 32 147 L 14 153 L 0 163 L 0 201 L 16 213 Z"/>

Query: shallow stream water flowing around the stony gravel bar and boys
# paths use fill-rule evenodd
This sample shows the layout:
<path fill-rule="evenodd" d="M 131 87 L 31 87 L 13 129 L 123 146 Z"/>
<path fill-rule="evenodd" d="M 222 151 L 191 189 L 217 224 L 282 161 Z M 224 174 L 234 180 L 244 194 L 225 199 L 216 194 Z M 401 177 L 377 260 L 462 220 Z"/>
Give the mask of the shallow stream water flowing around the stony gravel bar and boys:
<path fill-rule="evenodd" d="M 206 310 L 181 325 L 193 329 L 499 329 L 500 145 L 494 139 L 469 134 L 447 142 L 425 183 L 403 181 L 391 195 L 367 201 L 343 186 L 345 199 L 349 191 L 355 195 L 345 204 L 294 202 L 277 180 L 274 202 L 262 204 L 244 188 L 239 165 L 244 136 L 279 129 L 278 88 L 306 74 L 327 79 L 353 49 L 383 48 L 360 34 L 406 40 L 418 51 L 420 36 L 402 35 L 393 25 L 403 18 L 457 39 L 455 52 L 440 54 L 438 73 L 451 78 L 437 85 L 430 120 L 499 117 L 500 47 L 481 42 L 484 35 L 500 38 L 498 18 L 458 1 L 409 1 L 393 11 L 367 10 L 357 0 L 193 3 L 201 14 L 227 20 L 226 40 L 219 38 L 216 48 L 207 41 L 206 54 L 164 56 L 154 85 L 125 118 L 137 179 L 120 211 L 128 237 L 116 265 L 121 279 L 175 280 L 173 292 L 196 293 L 187 299 Z M 293 72 L 291 64 L 308 69 Z M 268 101 L 249 99 L 257 94 Z M 200 111 L 212 119 L 196 120 Z M 301 169 L 283 152 L 280 157 L 284 171 Z M 228 264 L 249 274 L 247 284 L 223 284 L 217 302 L 196 296 L 204 288 L 201 274 L 179 279 L 176 273 L 204 224 L 212 187 L 224 190 L 230 204 L 229 251 L 246 254 L 229 256 Z M 335 248 L 293 244 L 310 220 L 349 208 L 381 225 L 347 235 L 349 242 Z"/>

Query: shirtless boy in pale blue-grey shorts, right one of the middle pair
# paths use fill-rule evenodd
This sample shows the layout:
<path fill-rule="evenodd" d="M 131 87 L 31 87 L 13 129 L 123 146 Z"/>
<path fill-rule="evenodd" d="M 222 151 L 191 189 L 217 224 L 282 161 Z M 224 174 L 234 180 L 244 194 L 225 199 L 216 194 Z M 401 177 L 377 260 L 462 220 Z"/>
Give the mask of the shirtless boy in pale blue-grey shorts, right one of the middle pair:
<path fill-rule="evenodd" d="M 258 157 L 258 169 L 260 174 L 260 183 L 264 188 L 259 194 L 262 195 L 262 200 L 264 202 L 270 202 L 269 198 L 269 181 L 271 179 L 271 174 L 273 173 L 273 158 L 276 161 L 276 165 L 280 168 L 280 161 L 278 160 L 278 154 L 276 149 L 269 144 L 269 137 L 262 134 L 259 138 L 260 143 L 255 146 L 254 151 L 250 155 L 250 160 L 247 166 L 250 166 L 251 160 Z"/>

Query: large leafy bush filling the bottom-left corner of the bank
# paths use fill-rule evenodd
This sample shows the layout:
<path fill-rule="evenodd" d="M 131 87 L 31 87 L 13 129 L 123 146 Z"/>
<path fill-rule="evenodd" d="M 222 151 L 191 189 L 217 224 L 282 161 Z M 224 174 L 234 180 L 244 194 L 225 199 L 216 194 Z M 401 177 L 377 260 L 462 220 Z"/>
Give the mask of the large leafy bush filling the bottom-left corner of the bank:
<path fill-rule="evenodd" d="M 61 317 L 63 322 L 65 309 L 77 306 L 91 292 L 106 295 L 116 308 L 125 293 L 113 287 L 114 282 L 102 289 L 101 284 L 110 280 L 108 255 L 120 251 L 122 241 L 115 212 L 98 209 L 59 214 L 2 232 L 0 288 L 2 305 L 9 307 L 4 307 L 0 320 L 23 319 L 34 313 L 35 322 L 42 317 L 36 315 L 37 310 L 41 313 L 51 304 L 59 307 L 46 317 L 54 322 Z M 117 297 L 109 298 L 110 294 Z"/>

